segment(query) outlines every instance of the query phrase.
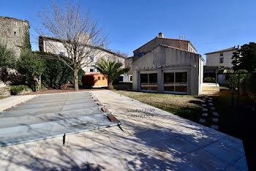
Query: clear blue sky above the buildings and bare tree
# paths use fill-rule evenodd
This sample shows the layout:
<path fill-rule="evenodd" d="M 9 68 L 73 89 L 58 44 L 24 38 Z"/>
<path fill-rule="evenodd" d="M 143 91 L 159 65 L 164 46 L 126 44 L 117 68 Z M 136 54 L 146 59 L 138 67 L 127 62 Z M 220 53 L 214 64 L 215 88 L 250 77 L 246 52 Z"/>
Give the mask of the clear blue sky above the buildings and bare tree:
<path fill-rule="evenodd" d="M 37 26 L 37 11 L 49 3 L 0 0 L 0 16 L 29 20 L 32 49 L 38 50 L 33 28 Z M 82 1 L 82 6 L 91 9 L 91 16 L 108 31 L 108 48 L 129 56 L 161 31 L 167 38 L 184 35 L 202 55 L 256 41 L 255 0 L 94 0 Z"/>

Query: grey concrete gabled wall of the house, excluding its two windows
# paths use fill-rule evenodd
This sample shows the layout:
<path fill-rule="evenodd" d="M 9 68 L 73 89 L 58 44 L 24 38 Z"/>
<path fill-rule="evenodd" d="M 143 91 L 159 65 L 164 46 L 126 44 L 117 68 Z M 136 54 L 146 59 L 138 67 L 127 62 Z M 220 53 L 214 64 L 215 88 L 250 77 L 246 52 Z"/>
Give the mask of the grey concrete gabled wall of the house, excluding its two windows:
<path fill-rule="evenodd" d="M 165 70 L 187 71 L 187 94 L 200 94 L 203 82 L 203 59 L 200 55 L 161 45 L 132 63 L 132 89 L 140 91 L 141 72 L 157 72 L 158 92 L 162 93 L 162 72 Z"/>

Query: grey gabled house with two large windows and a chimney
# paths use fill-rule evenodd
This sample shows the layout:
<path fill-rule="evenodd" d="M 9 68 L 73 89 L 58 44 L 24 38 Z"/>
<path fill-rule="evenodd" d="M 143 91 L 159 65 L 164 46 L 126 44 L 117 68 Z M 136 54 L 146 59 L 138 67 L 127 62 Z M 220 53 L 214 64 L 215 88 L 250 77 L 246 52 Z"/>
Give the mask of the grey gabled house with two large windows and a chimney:
<path fill-rule="evenodd" d="M 133 90 L 201 94 L 203 58 L 195 52 L 188 40 L 166 39 L 159 33 L 159 37 L 134 51 Z"/>

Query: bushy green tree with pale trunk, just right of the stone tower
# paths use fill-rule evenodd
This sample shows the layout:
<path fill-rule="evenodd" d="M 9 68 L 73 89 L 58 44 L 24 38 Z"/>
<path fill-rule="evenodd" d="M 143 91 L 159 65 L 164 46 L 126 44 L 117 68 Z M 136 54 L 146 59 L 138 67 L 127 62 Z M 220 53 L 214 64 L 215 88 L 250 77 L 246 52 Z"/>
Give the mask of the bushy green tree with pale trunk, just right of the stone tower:
<path fill-rule="evenodd" d="M 26 31 L 23 39 L 17 70 L 26 77 L 26 80 L 31 81 L 32 79 L 36 82 L 35 91 L 41 91 L 41 75 L 45 71 L 45 61 L 37 53 L 31 52 L 28 31 Z"/>

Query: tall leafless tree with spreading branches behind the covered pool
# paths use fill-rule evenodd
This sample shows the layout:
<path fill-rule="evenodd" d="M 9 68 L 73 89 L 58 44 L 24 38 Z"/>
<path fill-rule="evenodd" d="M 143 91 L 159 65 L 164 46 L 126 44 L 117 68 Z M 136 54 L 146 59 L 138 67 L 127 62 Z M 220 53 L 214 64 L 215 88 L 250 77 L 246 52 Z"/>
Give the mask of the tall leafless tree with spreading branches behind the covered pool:
<path fill-rule="evenodd" d="M 91 64 L 91 56 L 99 53 L 97 47 L 106 42 L 105 31 L 99 28 L 89 11 L 82 12 L 80 1 L 65 1 L 64 6 L 53 1 L 50 7 L 38 12 L 38 16 L 41 26 L 36 28 L 37 33 L 52 38 L 45 43 L 47 50 L 44 51 L 59 55 L 72 69 L 77 91 L 78 71 Z M 60 54 L 60 49 L 65 55 Z"/>

